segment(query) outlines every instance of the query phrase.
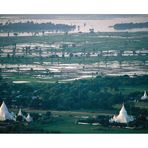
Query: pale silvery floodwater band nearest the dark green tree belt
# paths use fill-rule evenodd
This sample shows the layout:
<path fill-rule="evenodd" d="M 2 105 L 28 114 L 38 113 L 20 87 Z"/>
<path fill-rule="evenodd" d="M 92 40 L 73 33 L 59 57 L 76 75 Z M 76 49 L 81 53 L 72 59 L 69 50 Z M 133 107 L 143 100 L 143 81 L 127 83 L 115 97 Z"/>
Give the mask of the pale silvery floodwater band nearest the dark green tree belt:
<path fill-rule="evenodd" d="M 144 75 L 148 74 L 146 68 L 148 61 L 143 65 L 140 61 L 127 62 L 118 61 L 111 62 L 99 62 L 92 64 L 51 64 L 50 62 L 44 62 L 42 65 L 38 63 L 25 65 L 25 64 L 0 64 L 0 68 L 5 73 L 30 73 L 33 69 L 35 73 L 34 78 L 40 79 L 58 79 L 59 81 L 71 81 L 84 78 L 95 77 L 97 75 Z M 48 70 L 48 71 L 47 71 Z M 40 73 L 40 74 L 39 74 Z M 18 82 L 19 83 L 19 82 Z M 23 82 L 20 82 L 23 83 Z"/>

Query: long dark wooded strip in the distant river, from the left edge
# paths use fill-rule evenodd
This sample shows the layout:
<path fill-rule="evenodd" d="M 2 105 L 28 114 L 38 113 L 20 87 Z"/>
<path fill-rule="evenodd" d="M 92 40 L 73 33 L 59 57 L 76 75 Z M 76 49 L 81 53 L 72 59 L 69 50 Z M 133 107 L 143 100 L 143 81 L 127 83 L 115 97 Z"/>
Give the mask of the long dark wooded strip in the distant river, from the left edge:
<path fill-rule="evenodd" d="M 62 31 L 68 32 L 74 30 L 75 25 L 67 24 L 54 24 L 54 23 L 34 23 L 32 21 L 28 22 L 18 22 L 11 23 L 7 22 L 5 24 L 0 23 L 0 31 L 3 32 L 33 32 L 33 31 Z"/>

